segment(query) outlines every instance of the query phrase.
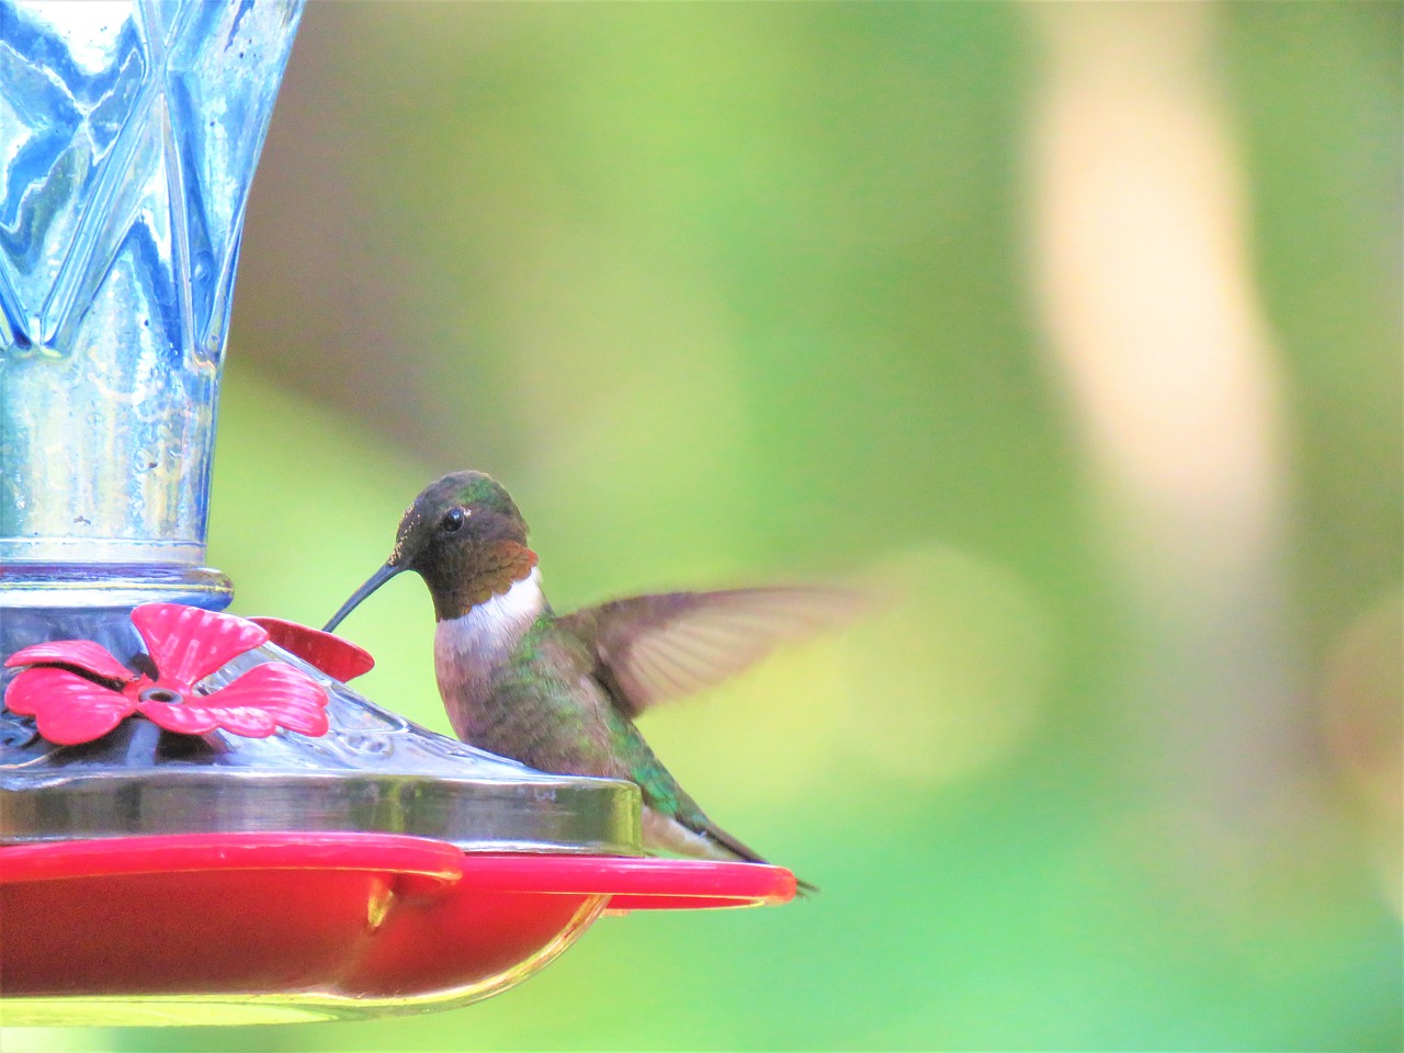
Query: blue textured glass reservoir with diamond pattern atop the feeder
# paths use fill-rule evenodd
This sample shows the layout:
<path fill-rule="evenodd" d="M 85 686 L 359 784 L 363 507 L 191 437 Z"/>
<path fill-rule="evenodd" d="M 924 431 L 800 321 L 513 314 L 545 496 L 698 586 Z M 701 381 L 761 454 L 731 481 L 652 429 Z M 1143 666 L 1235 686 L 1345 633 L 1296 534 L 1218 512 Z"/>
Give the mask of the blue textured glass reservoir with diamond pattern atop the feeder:
<path fill-rule="evenodd" d="M 227 591 L 198 570 L 219 375 L 299 17 L 0 0 L 0 604 L 37 574 Z"/>

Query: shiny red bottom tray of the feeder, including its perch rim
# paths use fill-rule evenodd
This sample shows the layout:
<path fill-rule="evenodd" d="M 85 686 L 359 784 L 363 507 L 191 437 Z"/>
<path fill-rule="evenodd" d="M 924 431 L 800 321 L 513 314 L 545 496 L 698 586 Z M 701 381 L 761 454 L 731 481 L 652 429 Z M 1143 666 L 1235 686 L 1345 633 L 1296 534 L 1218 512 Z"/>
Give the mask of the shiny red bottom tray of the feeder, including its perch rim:
<path fill-rule="evenodd" d="M 275 1022 L 442 1009 L 531 976 L 605 910 L 786 903 L 779 866 L 463 854 L 365 833 L 0 848 L 8 1025 Z"/>

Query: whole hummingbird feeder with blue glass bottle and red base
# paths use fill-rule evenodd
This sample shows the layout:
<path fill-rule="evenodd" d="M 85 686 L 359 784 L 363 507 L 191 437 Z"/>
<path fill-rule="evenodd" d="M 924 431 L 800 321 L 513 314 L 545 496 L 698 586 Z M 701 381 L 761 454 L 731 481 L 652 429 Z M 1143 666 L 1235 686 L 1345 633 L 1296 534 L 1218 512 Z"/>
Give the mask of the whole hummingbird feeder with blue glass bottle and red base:
<path fill-rule="evenodd" d="M 223 614 L 204 566 L 244 202 L 300 3 L 0 0 L 0 1014 L 279 1022 L 504 990 L 598 917 L 783 903 Z"/>

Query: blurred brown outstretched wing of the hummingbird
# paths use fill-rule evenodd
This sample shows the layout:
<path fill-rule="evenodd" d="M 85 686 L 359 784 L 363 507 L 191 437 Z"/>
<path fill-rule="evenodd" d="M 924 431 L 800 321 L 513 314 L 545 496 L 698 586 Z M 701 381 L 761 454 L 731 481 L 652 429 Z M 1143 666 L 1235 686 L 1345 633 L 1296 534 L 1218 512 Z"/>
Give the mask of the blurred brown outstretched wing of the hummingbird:
<path fill-rule="evenodd" d="M 713 687 L 775 647 L 837 628 L 865 607 L 845 588 L 664 592 L 587 607 L 560 619 L 594 650 L 595 677 L 635 717 Z"/>

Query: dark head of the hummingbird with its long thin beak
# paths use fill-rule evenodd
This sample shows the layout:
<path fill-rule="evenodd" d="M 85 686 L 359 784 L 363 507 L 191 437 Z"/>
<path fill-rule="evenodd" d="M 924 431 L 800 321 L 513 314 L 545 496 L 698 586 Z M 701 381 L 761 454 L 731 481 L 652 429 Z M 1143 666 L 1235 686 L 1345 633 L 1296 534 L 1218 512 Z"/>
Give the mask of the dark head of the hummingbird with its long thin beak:
<path fill-rule="evenodd" d="M 331 616 L 326 632 L 406 570 L 424 578 L 434 612 L 444 621 L 505 592 L 535 566 L 526 521 L 507 489 L 482 472 L 452 472 L 424 487 L 404 510 L 390 557 Z"/>

